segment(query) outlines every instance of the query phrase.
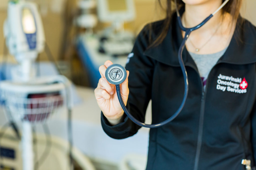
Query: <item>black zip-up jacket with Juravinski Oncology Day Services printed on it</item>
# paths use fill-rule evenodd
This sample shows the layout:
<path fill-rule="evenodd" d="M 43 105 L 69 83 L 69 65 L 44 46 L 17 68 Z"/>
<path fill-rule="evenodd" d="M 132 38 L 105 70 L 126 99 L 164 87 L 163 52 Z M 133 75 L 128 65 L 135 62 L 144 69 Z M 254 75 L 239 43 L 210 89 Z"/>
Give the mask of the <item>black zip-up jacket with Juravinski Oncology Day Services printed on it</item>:
<path fill-rule="evenodd" d="M 251 160 L 254 166 L 256 29 L 249 21 L 239 23 L 225 54 L 209 73 L 205 92 L 197 66 L 184 49 L 187 101 L 176 119 L 150 130 L 147 169 L 242 170 L 242 159 Z M 153 23 L 153 39 L 163 24 Z M 147 48 L 149 35 L 145 27 L 126 65 L 130 71 L 127 108 L 144 122 L 152 99 L 155 124 L 172 116 L 183 99 L 184 80 L 177 57 L 182 34 L 177 15 L 173 15 L 167 36 L 159 46 Z M 140 127 L 126 115 L 123 117 L 121 123 L 111 126 L 102 114 L 105 133 L 115 139 L 137 133 Z"/>

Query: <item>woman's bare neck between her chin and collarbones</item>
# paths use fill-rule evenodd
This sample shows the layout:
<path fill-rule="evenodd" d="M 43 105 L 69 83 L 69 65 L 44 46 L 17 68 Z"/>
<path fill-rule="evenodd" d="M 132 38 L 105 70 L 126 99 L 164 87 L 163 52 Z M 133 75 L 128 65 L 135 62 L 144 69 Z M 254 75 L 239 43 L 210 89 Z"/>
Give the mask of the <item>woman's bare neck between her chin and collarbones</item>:
<path fill-rule="evenodd" d="M 209 0 L 207 2 L 196 5 L 186 4 L 185 12 L 183 14 L 183 21 L 185 22 L 185 26 L 194 27 L 201 23 L 206 17 L 218 9 L 221 4 L 222 1 L 220 0 Z M 221 21 L 221 16 L 222 12 L 220 10 L 203 27 L 200 28 L 200 31 L 216 28 Z"/>

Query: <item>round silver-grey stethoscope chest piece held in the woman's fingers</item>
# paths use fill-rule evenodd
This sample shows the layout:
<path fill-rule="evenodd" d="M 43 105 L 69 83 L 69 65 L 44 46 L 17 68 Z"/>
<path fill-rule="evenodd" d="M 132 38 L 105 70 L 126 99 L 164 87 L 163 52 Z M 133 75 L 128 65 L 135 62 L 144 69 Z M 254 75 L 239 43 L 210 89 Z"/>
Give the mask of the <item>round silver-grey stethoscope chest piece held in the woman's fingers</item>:
<path fill-rule="evenodd" d="M 120 64 L 112 64 L 106 69 L 106 80 L 111 84 L 121 84 L 125 81 L 127 76 L 125 68 Z"/>

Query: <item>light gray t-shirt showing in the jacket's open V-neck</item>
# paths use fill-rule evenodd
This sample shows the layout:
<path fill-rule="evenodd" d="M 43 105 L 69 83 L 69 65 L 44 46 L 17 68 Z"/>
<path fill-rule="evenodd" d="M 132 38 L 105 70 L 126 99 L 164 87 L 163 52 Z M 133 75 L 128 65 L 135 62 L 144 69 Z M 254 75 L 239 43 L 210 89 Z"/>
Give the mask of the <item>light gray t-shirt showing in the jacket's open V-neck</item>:
<path fill-rule="evenodd" d="M 208 78 L 208 75 L 212 67 L 214 67 L 214 65 L 217 63 L 220 57 L 223 56 L 226 50 L 227 48 L 214 54 L 195 54 L 195 53 L 189 52 L 190 56 L 193 58 L 193 60 L 197 65 L 204 88 L 206 85 L 206 80 Z"/>

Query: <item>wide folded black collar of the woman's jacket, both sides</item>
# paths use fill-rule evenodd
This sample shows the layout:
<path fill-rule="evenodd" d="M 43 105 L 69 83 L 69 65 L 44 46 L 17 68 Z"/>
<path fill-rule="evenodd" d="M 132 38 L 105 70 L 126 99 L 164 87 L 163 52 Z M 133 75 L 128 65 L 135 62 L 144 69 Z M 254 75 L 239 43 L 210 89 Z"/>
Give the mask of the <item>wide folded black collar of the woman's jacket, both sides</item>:
<path fill-rule="evenodd" d="M 181 10 L 181 14 L 183 11 Z M 174 13 L 172 26 L 170 26 L 163 42 L 156 47 L 146 49 L 144 55 L 170 66 L 180 66 L 178 49 L 183 37 L 177 20 L 177 14 Z M 241 20 L 242 18 L 239 16 L 231 42 L 218 63 L 249 64 L 256 62 L 256 29 L 246 20 L 239 24 Z M 183 50 L 182 58 L 186 66 L 196 68 L 196 64 L 186 48 Z"/>

